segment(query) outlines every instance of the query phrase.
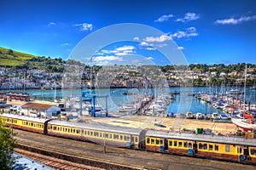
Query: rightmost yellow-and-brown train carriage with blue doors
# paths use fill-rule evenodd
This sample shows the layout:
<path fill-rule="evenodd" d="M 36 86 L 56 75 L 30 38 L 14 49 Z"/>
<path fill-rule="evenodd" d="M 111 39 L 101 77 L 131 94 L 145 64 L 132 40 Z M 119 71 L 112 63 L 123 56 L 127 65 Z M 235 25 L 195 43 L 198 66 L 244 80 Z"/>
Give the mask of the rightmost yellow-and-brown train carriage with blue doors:
<path fill-rule="evenodd" d="M 201 156 L 229 161 L 254 162 L 256 139 L 148 130 L 147 150 Z"/>

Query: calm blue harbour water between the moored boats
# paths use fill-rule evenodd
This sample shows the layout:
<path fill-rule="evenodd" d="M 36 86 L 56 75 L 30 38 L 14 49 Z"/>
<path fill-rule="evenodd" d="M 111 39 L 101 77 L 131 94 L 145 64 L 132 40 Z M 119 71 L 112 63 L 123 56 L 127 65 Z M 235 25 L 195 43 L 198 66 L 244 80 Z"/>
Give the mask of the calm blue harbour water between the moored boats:
<path fill-rule="evenodd" d="M 130 93 L 130 95 L 124 95 L 124 92 Z M 230 88 L 224 88 L 224 91 L 230 90 Z M 168 107 L 168 112 L 173 113 L 186 113 L 191 111 L 192 113 L 210 113 L 210 105 L 202 102 L 201 100 L 196 99 L 193 96 L 189 96 L 189 94 L 195 94 L 197 92 L 222 92 L 222 88 L 161 88 L 161 89 L 148 89 L 142 90 L 137 88 L 126 89 L 126 88 L 104 88 L 104 89 L 96 89 L 96 94 L 98 96 L 106 96 L 108 95 L 108 111 L 117 111 L 121 105 L 125 105 L 131 103 L 139 94 L 168 94 L 169 92 L 177 91 L 180 94 L 175 95 L 176 100 L 174 100 Z M 243 92 L 243 88 L 240 89 Z M 57 99 L 61 99 L 63 97 L 80 97 L 81 90 L 26 90 L 26 93 L 30 94 L 31 98 L 34 99 L 42 99 L 48 101 L 54 101 L 55 94 Z M 247 88 L 246 99 L 247 102 L 251 102 L 252 104 L 256 104 L 256 90 L 251 90 Z M 239 95 L 239 98 L 243 100 L 243 94 Z M 97 98 L 96 103 L 106 107 L 106 99 L 105 98 Z M 212 112 L 218 112 L 214 108 L 212 108 Z"/>

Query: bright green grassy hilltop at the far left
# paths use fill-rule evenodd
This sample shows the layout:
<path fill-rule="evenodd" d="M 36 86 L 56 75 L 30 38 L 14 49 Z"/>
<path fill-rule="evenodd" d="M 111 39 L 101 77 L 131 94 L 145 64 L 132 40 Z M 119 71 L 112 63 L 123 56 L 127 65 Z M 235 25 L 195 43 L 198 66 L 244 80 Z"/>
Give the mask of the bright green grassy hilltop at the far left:
<path fill-rule="evenodd" d="M 32 54 L 25 54 L 8 48 L 0 48 L 0 66 L 23 66 L 30 59 L 38 58 Z"/>

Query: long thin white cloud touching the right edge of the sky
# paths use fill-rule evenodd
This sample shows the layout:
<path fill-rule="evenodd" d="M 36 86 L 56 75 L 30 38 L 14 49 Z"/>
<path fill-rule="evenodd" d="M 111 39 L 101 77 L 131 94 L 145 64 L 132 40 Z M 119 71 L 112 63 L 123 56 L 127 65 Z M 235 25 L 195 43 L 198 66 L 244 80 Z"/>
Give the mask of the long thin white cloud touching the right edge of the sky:
<path fill-rule="evenodd" d="M 220 25 L 237 25 L 241 24 L 242 22 L 250 21 L 250 20 L 256 20 L 256 14 L 252 16 L 241 16 L 240 18 L 230 18 L 230 19 L 224 19 L 224 20 L 216 20 L 215 24 Z"/>

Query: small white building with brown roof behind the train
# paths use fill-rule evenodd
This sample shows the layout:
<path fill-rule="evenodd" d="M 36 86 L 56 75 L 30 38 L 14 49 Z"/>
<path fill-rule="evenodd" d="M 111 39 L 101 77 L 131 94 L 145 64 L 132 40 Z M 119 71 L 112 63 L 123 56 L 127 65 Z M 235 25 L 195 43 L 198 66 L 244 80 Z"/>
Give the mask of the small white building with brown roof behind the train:
<path fill-rule="evenodd" d="M 25 105 L 21 105 L 22 113 L 26 116 L 56 116 L 61 112 L 61 108 L 52 104 L 41 104 L 29 102 Z"/>

